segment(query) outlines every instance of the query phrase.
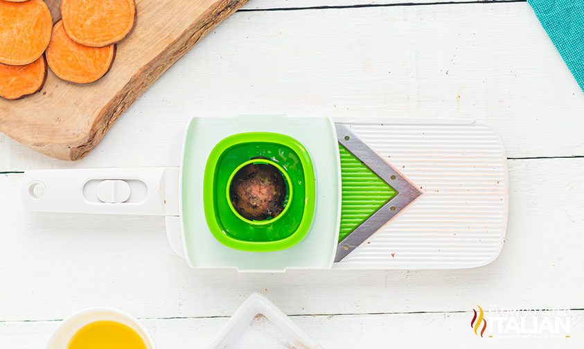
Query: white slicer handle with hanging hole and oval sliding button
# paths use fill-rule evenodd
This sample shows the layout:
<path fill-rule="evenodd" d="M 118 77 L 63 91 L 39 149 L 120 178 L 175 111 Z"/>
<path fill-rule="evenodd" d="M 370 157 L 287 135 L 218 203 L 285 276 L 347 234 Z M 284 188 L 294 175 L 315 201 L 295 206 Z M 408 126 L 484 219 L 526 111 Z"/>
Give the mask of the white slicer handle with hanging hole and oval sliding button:
<path fill-rule="evenodd" d="M 29 211 L 179 215 L 179 168 L 30 170 L 21 195 Z"/>

